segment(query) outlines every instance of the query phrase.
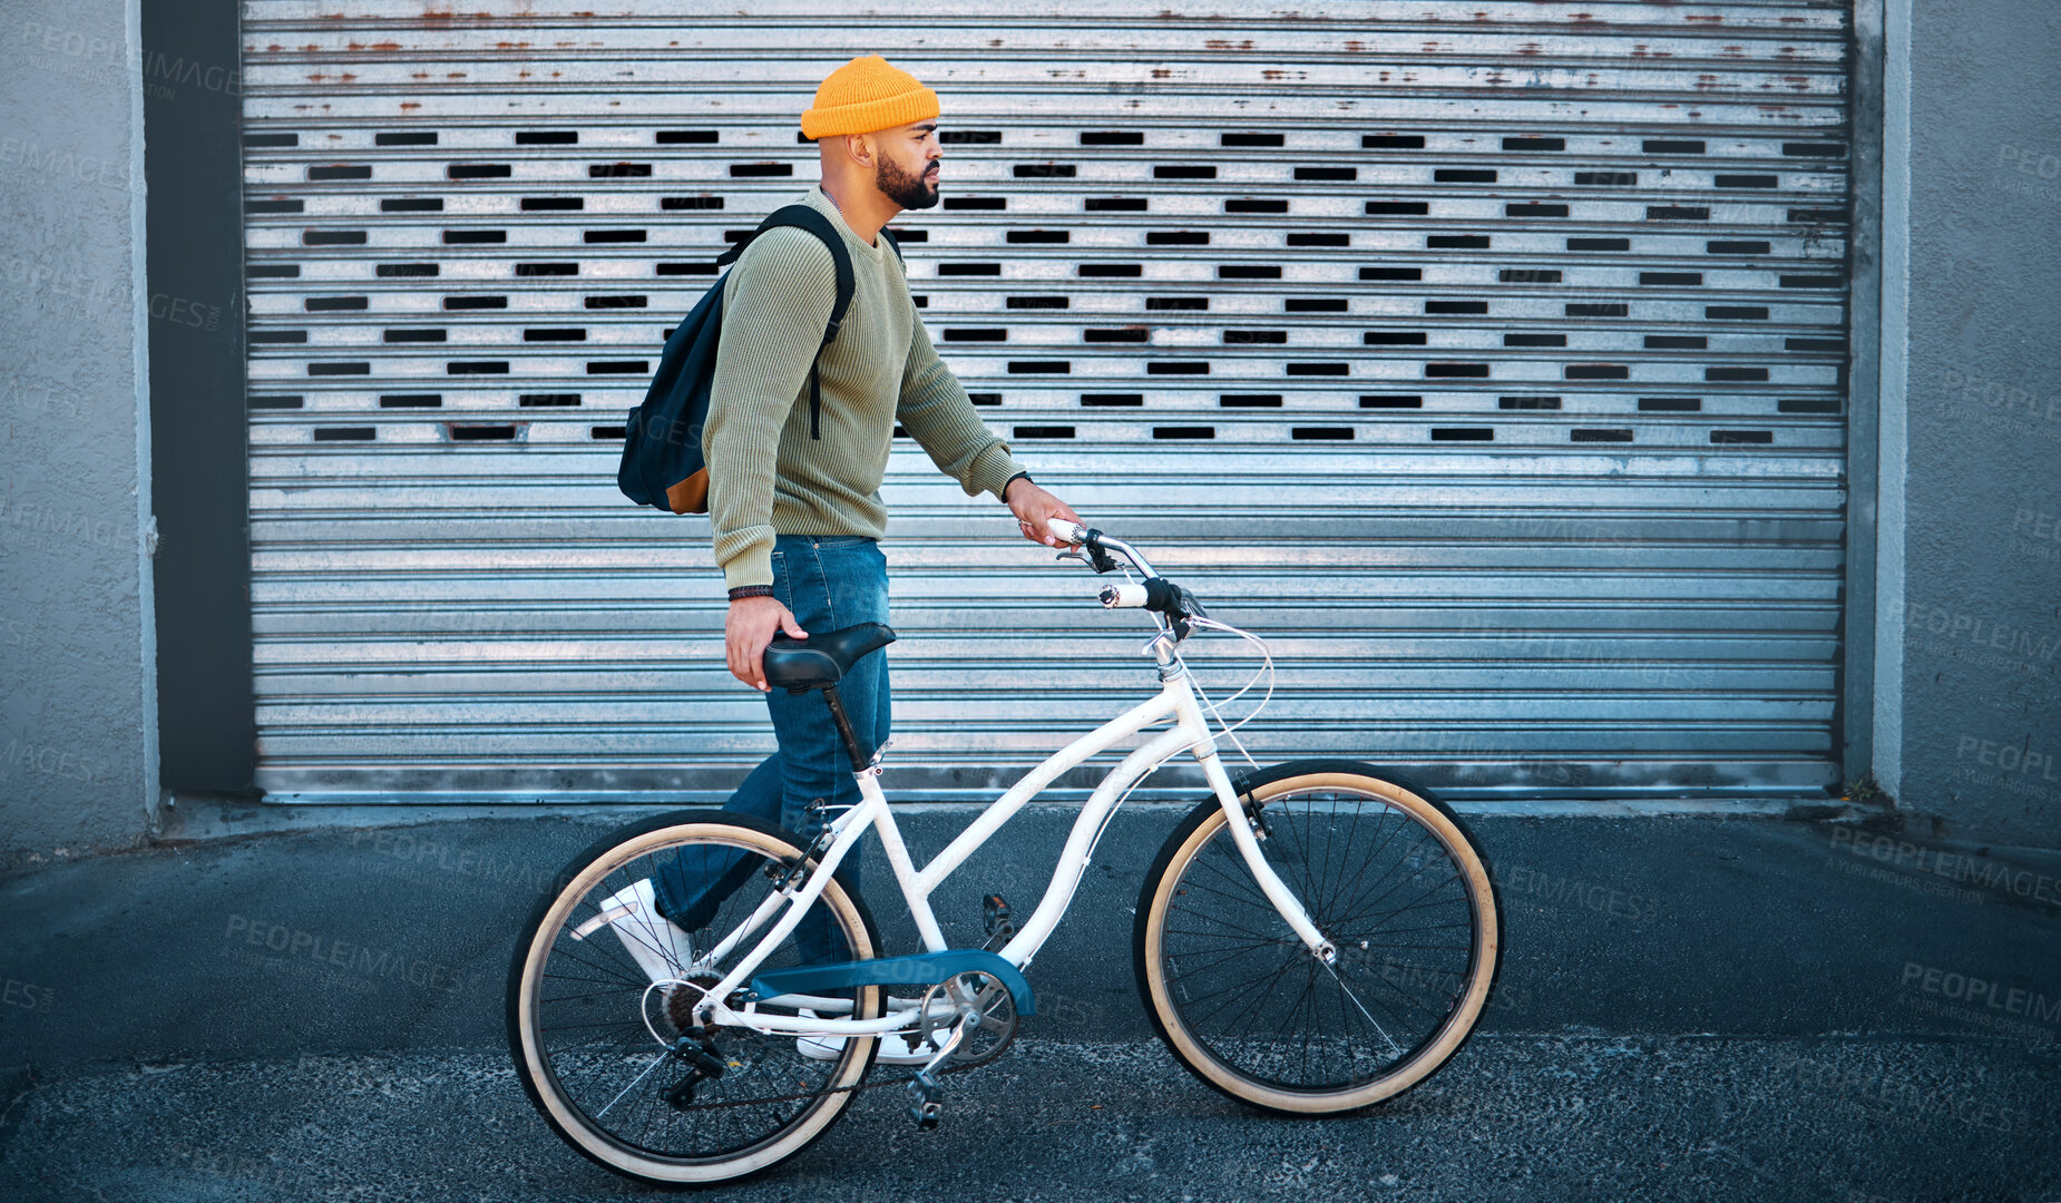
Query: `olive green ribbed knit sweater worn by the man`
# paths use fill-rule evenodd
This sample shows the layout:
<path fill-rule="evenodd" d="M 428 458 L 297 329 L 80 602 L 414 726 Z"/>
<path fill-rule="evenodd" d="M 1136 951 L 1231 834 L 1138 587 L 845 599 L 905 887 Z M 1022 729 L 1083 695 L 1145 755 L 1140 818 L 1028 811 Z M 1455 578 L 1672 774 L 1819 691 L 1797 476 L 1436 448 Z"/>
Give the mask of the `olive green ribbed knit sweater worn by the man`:
<path fill-rule="evenodd" d="M 773 583 L 773 536 L 886 534 L 880 478 L 894 424 L 969 496 L 1002 496 L 1022 472 L 944 367 L 909 299 L 901 260 L 868 245 L 822 187 L 804 204 L 845 239 L 855 276 L 837 340 L 822 328 L 837 301 L 837 264 L 802 229 L 752 241 L 723 280 L 723 340 L 709 422 L 709 523 L 723 585 Z M 808 431 L 808 369 L 822 348 L 822 437 Z"/>

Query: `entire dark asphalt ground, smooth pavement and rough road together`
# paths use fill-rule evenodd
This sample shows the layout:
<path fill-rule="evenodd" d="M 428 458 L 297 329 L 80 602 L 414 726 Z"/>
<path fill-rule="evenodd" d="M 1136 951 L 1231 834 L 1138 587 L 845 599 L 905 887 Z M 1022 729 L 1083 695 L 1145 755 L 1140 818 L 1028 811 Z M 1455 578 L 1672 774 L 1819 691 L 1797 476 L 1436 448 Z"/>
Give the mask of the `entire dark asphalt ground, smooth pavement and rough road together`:
<path fill-rule="evenodd" d="M 909 843 L 969 814 L 911 812 Z M 0 878 L 0 1199 L 649 1197 L 544 1129 L 501 1034 L 519 923 L 618 818 Z M 1191 1081 L 1136 999 L 1131 906 L 1179 818 L 1117 818 L 1030 968 L 1039 1016 L 952 1075 L 944 1129 L 874 1090 L 713 1197 L 2061 1203 L 2061 855 L 1890 822 L 1474 818 L 1509 935 L 1478 1038 L 1373 1112 L 1286 1121 Z M 1026 913 L 1068 822 L 1035 807 L 971 861 L 938 896 L 946 933 L 979 941 L 981 894 Z"/>

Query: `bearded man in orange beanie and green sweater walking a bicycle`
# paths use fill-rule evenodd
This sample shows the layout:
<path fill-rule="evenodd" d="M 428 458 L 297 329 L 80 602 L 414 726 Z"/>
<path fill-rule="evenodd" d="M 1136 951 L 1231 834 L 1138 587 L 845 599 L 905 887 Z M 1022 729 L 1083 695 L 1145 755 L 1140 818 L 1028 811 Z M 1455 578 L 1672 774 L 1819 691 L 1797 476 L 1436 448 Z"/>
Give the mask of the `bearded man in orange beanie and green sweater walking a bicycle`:
<path fill-rule="evenodd" d="M 886 560 L 876 542 L 886 529 L 880 478 L 894 424 L 967 494 L 1008 505 L 1024 538 L 1061 546 L 1047 519 L 1080 517 L 1037 486 L 981 422 L 923 330 L 899 255 L 880 239 L 899 212 L 938 204 L 938 93 L 878 56 L 855 58 L 822 80 L 802 132 L 822 161 L 822 183 L 802 202 L 843 237 L 855 276 L 851 307 L 824 346 L 837 297 L 831 249 L 791 227 L 752 241 L 723 284 L 703 449 L 715 560 L 730 589 L 730 672 L 767 694 L 779 740 L 725 810 L 812 838 L 824 807 L 857 803 L 857 783 L 822 694 L 769 690 L 761 657 L 777 630 L 808 639 L 810 630 L 886 622 Z M 812 363 L 820 365 L 820 420 L 808 404 Z M 886 657 L 861 659 L 839 694 L 861 750 L 880 748 L 890 711 Z M 857 861 L 845 863 L 857 875 Z M 690 908 L 707 910 L 709 880 L 707 865 L 672 865 L 655 890 L 637 882 L 610 902 L 641 904 L 645 923 L 653 900 L 660 915 L 684 919 Z M 639 927 L 620 933 L 624 946 L 653 978 L 674 976 Z M 657 939 L 672 941 L 674 956 L 688 950 L 686 933 L 670 923 Z M 845 956 L 822 915 L 804 919 L 796 943 L 804 960 Z"/>

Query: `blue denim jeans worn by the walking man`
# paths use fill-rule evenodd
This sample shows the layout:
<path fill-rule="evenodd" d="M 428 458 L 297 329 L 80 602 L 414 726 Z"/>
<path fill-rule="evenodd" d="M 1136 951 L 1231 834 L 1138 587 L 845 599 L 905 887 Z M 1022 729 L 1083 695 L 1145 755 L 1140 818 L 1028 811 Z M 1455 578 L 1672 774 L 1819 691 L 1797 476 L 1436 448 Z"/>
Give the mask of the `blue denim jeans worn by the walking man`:
<path fill-rule="evenodd" d="M 880 546 L 868 538 L 779 536 L 773 542 L 773 595 L 810 634 L 859 622 L 886 622 L 888 562 Z M 888 737 L 886 653 L 876 651 L 859 659 L 837 684 L 837 696 L 845 704 L 845 717 L 851 719 L 859 752 L 872 756 Z M 859 783 L 851 777 L 851 758 L 820 690 L 789 694 L 775 688 L 767 694 L 767 711 L 773 717 L 779 752 L 750 770 L 723 810 L 777 822 L 808 843 L 816 838 L 826 818 L 859 803 Z M 822 810 L 810 814 L 808 807 L 816 801 L 824 803 L 829 814 Z M 678 853 L 670 865 L 660 865 L 653 878 L 660 915 L 686 931 L 707 927 L 750 871 L 752 863 L 736 853 Z M 857 849 L 845 857 L 839 875 L 857 888 Z M 822 906 L 812 906 L 802 917 L 793 941 L 804 964 L 851 958 Z"/>

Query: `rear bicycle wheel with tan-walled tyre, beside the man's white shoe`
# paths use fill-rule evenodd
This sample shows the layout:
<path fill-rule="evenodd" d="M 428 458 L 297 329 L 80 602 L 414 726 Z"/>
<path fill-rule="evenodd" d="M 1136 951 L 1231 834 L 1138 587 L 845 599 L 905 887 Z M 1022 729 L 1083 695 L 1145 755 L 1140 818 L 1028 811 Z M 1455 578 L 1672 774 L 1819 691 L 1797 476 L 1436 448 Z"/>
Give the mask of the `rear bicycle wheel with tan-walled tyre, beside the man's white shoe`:
<path fill-rule="evenodd" d="M 515 941 L 507 987 L 517 1077 L 559 1137 L 629 1178 L 723 1182 L 791 1158 L 843 1114 L 872 1067 L 876 1038 L 845 1040 L 824 1061 L 804 1057 L 793 1036 L 719 1028 L 713 1053 L 725 1067 L 721 1077 L 697 1073 L 670 1049 L 686 1034 L 701 991 L 771 923 L 719 964 L 690 966 L 664 919 L 604 919 L 604 904 L 645 878 L 676 865 L 709 871 L 734 892 L 697 906 L 703 915 L 688 919 L 697 923 L 688 937 L 692 950 L 715 948 L 777 888 L 779 867 L 802 859 L 793 834 L 750 816 L 676 812 L 610 834 L 567 865 L 561 888 L 538 902 Z M 610 913 L 620 915 L 618 906 Z M 833 880 L 816 910 L 831 917 L 833 943 L 843 939 L 851 960 L 878 956 L 874 921 L 845 882 Z M 639 950 L 668 962 L 680 985 L 653 987 Z M 761 968 L 793 964 L 800 954 L 789 937 Z M 837 997 L 861 1020 L 884 1007 L 880 987 Z"/>

